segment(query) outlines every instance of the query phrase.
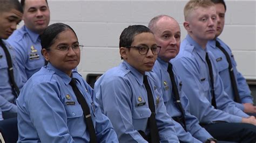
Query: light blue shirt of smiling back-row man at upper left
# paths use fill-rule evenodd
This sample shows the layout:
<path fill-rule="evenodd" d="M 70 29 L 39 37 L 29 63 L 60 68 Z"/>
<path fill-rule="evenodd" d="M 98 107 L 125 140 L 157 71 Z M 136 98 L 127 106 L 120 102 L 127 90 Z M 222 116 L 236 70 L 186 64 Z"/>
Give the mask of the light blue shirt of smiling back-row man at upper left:
<path fill-rule="evenodd" d="M 24 25 L 11 34 L 8 42 L 15 48 L 19 74 L 22 76 L 22 82 L 25 83 L 31 75 L 44 66 L 39 34 L 30 31 Z"/>

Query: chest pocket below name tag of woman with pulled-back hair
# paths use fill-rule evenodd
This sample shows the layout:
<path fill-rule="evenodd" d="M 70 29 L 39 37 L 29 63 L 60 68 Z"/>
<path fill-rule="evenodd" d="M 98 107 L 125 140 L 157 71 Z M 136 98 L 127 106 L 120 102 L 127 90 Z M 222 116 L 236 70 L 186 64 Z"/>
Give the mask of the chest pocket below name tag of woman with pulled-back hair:
<path fill-rule="evenodd" d="M 78 104 L 78 103 L 77 103 Z M 83 116 L 83 110 L 81 106 L 78 105 L 66 105 L 66 116 L 67 118 L 78 118 Z"/>

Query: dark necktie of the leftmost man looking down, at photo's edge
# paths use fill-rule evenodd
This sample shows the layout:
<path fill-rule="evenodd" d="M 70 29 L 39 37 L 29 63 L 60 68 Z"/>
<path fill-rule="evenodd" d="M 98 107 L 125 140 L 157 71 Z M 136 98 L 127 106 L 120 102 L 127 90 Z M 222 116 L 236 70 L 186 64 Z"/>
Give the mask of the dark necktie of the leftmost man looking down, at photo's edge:
<path fill-rule="evenodd" d="M 11 55 L 10 55 L 8 49 L 6 48 L 6 46 L 4 45 L 2 39 L 0 39 L 0 45 L 4 49 L 4 53 L 6 56 L 6 60 L 7 60 L 7 64 L 8 64 L 8 75 L 9 75 L 9 80 L 10 80 L 10 84 L 12 87 L 12 92 L 14 93 L 15 97 L 17 98 L 19 95 L 19 88 L 14 79 L 14 68 L 12 67 Z"/>

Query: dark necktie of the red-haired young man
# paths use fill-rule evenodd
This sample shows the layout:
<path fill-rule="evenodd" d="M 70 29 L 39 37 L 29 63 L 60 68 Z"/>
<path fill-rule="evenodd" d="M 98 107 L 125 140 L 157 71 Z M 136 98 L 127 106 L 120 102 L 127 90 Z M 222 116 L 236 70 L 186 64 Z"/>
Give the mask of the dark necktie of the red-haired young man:
<path fill-rule="evenodd" d="M 208 53 L 206 52 L 205 60 L 208 65 L 209 69 L 209 74 L 210 74 L 210 81 L 211 81 L 211 94 L 212 94 L 212 105 L 214 106 L 215 109 L 217 109 L 216 105 L 216 98 L 215 98 L 215 92 L 214 92 L 214 78 L 213 78 L 213 71 L 212 71 L 212 63 L 209 59 Z"/>

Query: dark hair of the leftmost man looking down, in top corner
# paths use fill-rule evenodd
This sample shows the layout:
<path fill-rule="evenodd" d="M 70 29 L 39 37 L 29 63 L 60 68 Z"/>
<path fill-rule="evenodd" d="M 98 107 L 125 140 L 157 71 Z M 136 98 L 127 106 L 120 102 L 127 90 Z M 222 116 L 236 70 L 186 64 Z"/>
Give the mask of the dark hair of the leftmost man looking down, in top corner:
<path fill-rule="evenodd" d="M 23 9 L 18 0 L 1 0 L 0 1 L 0 12 L 8 12 L 15 9 L 23 13 Z"/>

